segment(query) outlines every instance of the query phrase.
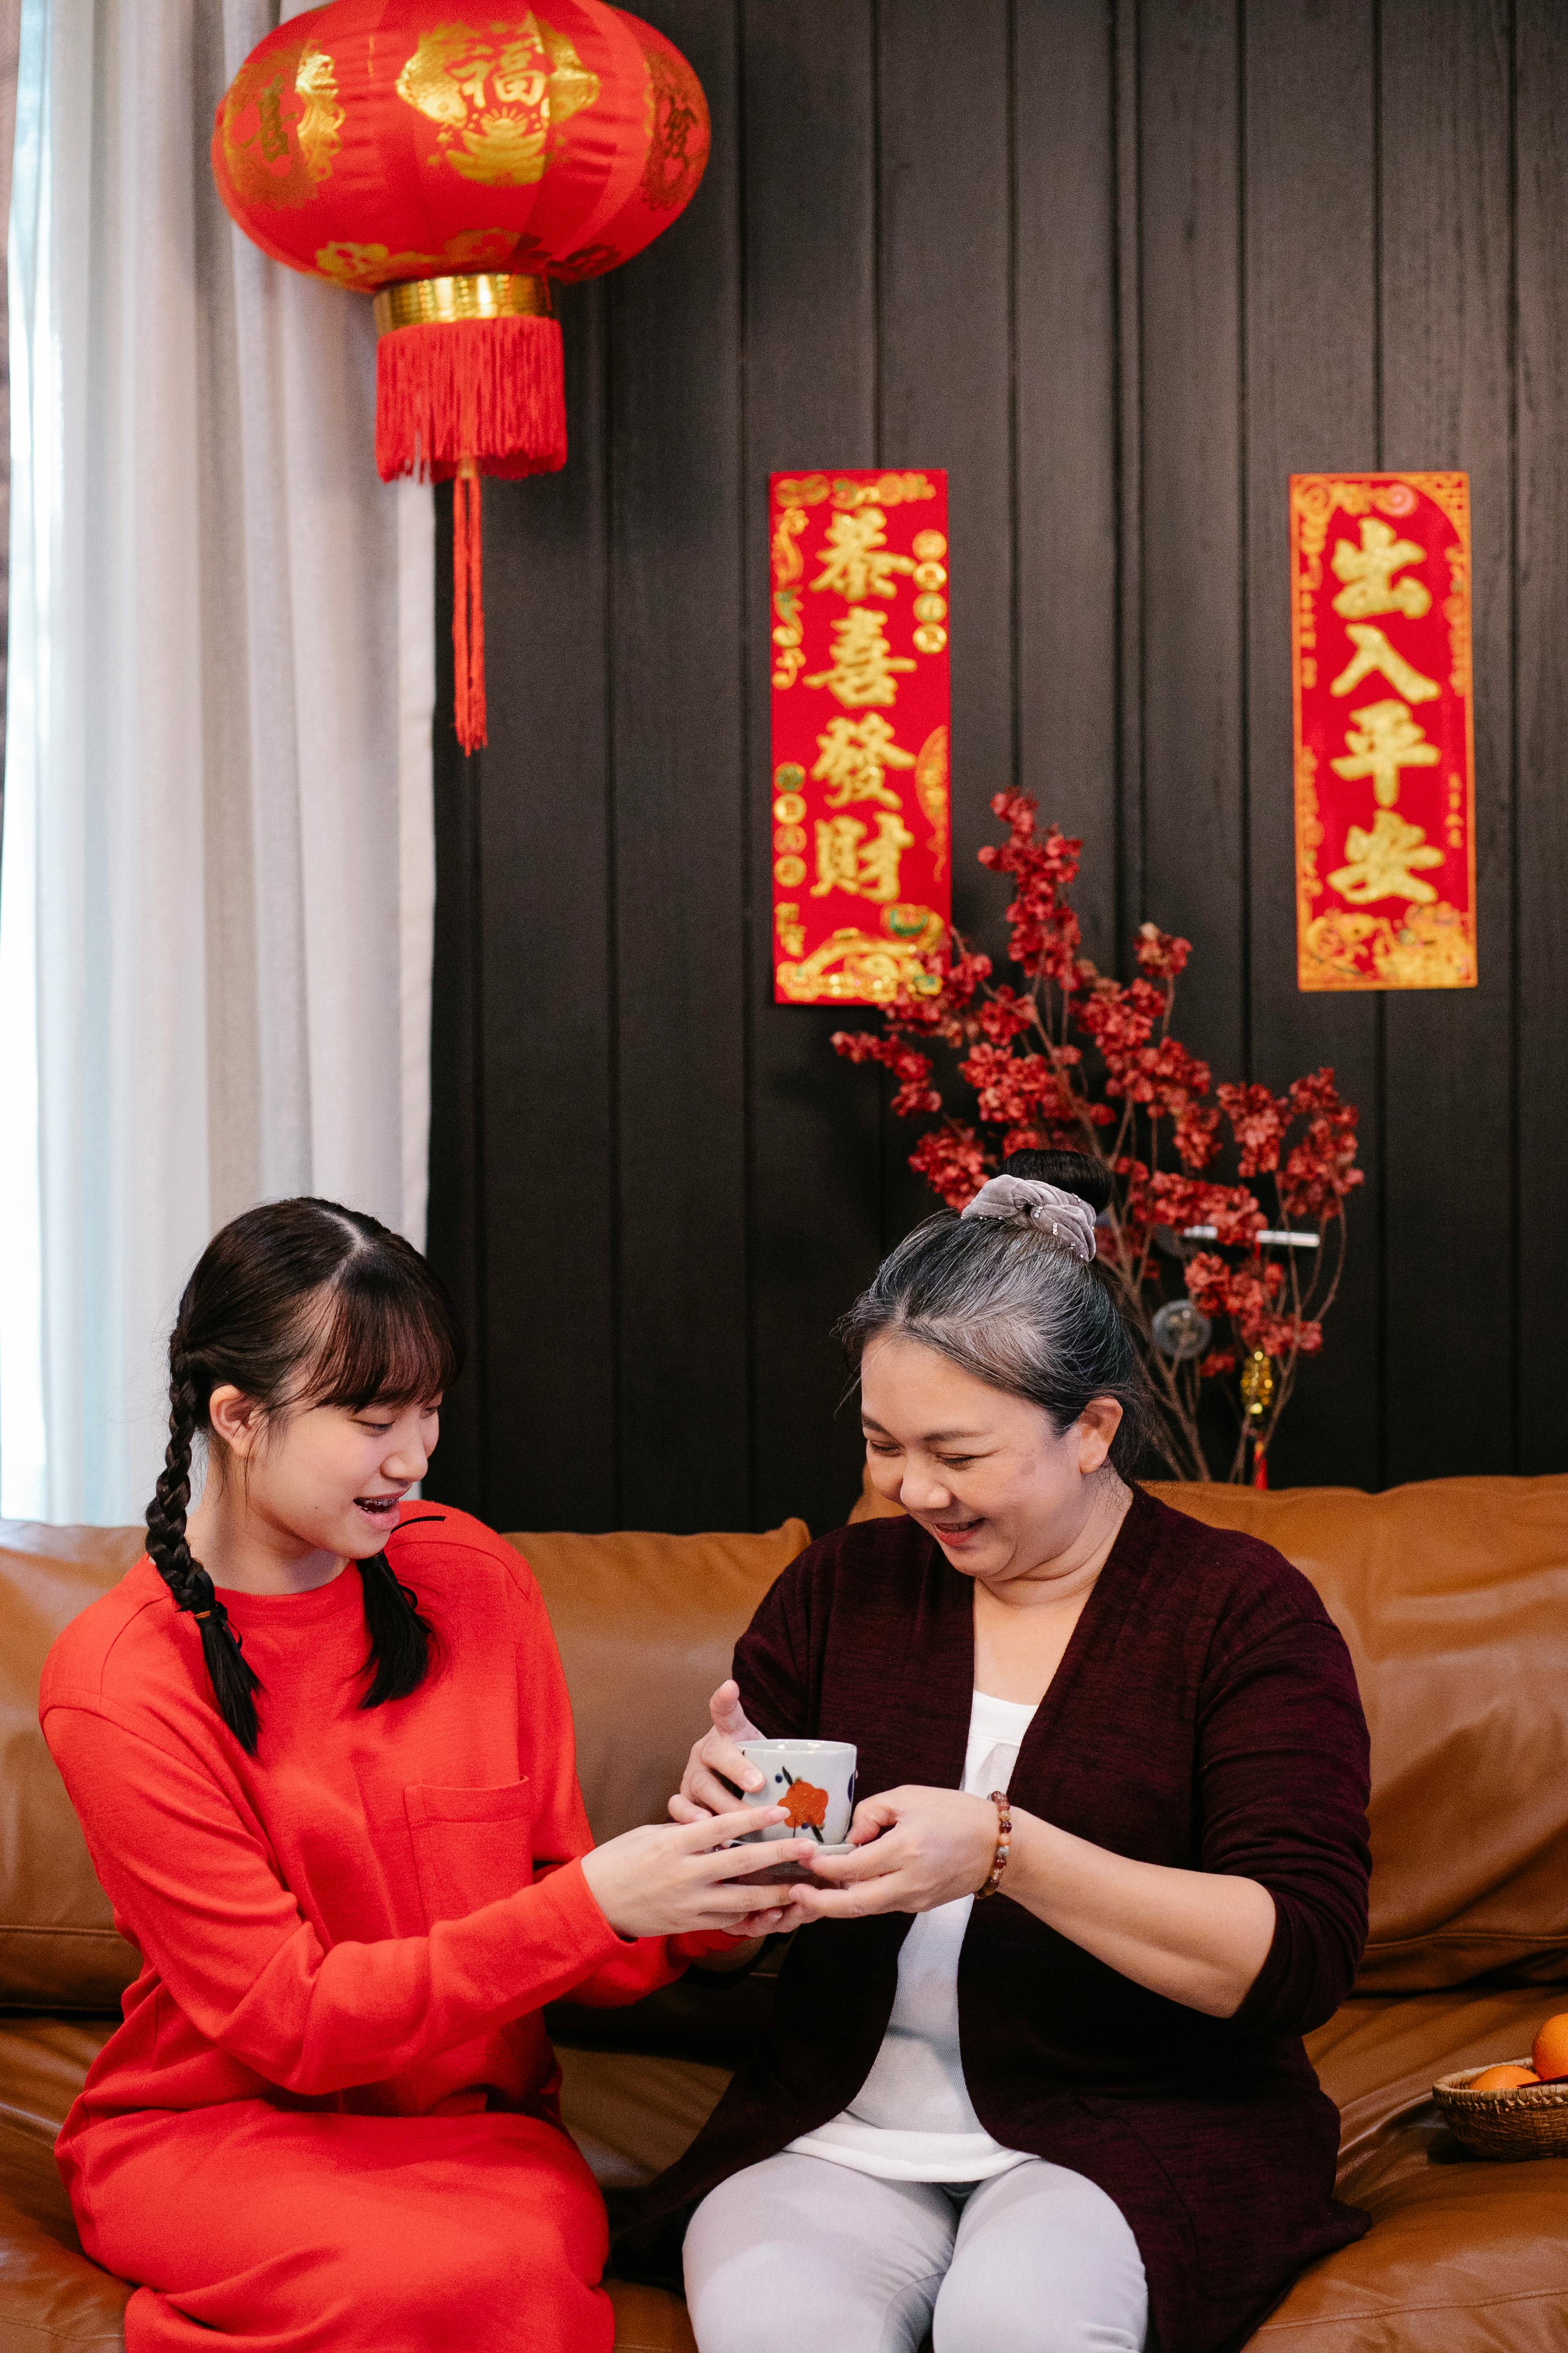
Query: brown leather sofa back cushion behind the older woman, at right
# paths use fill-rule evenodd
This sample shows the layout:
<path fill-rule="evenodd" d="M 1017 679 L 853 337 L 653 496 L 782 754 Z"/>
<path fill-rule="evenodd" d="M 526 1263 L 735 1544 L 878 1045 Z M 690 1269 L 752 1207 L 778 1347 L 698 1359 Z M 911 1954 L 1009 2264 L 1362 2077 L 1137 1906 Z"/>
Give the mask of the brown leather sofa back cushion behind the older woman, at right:
<path fill-rule="evenodd" d="M 1274 1544 L 1349 1642 L 1373 1737 L 1359 1986 L 1568 1979 L 1568 1478 L 1150 1494 Z M 851 1518 L 889 1511 L 867 1482 Z"/>

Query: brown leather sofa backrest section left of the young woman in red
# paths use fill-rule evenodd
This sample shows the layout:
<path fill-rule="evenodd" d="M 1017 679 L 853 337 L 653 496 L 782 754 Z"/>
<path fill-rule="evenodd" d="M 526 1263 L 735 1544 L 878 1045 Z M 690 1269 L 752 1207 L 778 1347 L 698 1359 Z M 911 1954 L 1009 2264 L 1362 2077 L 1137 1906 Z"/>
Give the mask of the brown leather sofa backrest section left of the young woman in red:
<path fill-rule="evenodd" d="M 38 1729 L 54 1635 L 141 1553 L 139 1527 L 0 1520 L 0 2007 L 118 2009 L 136 1955 Z"/>

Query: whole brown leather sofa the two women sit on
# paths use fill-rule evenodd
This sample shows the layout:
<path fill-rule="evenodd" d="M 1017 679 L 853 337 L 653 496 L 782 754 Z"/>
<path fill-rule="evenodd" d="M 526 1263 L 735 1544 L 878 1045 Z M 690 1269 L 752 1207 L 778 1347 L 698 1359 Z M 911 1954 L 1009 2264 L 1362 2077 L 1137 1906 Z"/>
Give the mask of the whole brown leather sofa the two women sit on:
<path fill-rule="evenodd" d="M 1312 1577 L 1373 1729 L 1373 1934 L 1356 1993 L 1312 2038 L 1345 2115 L 1342 2195 L 1373 2231 L 1309 2271 L 1253 2344 L 1563 2353 L 1568 2160 L 1465 2158 L 1429 2085 L 1516 2057 L 1540 2017 L 1568 2007 L 1568 1478 L 1157 1492 L 1267 1537 Z M 595 1831 L 661 1817 L 738 1628 L 806 1529 L 512 1541 L 567 1661 Z M 136 1548 L 132 1529 L 0 1522 L 0 2353 L 122 2344 L 127 2289 L 82 2257 L 52 2141 L 129 1953 L 35 1697 L 56 1631 Z M 611 2202 L 684 2148 L 766 2000 L 757 1977 L 555 2014 L 564 2115 Z M 614 2297 L 621 2353 L 691 2353 L 677 2299 Z"/>

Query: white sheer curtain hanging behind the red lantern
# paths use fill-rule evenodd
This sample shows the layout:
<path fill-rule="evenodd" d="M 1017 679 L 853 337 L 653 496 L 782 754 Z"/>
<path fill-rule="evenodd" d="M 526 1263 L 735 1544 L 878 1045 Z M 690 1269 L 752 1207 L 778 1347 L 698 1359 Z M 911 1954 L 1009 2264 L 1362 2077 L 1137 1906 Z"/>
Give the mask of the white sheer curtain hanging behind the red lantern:
<path fill-rule="evenodd" d="M 294 7 L 24 0 L 9 238 L 0 1511 L 132 1520 L 235 1209 L 423 1240 L 430 494 L 374 471 L 369 306 L 207 169 Z"/>

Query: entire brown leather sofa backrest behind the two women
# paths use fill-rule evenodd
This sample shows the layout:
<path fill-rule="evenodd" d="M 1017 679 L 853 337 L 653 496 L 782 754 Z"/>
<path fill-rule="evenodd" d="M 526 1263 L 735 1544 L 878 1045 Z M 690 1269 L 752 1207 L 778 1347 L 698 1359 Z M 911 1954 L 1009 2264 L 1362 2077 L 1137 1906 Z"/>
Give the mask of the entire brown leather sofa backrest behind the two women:
<path fill-rule="evenodd" d="M 1152 1492 L 1276 1544 L 1349 1642 L 1373 1734 L 1361 1986 L 1568 1979 L 1568 1478 Z M 663 1819 L 804 1525 L 510 1541 L 562 1647 L 595 1833 Z M 139 1529 L 0 1522 L 0 2007 L 106 2009 L 134 1974 L 35 1711 L 49 1642 L 139 1546 Z"/>

